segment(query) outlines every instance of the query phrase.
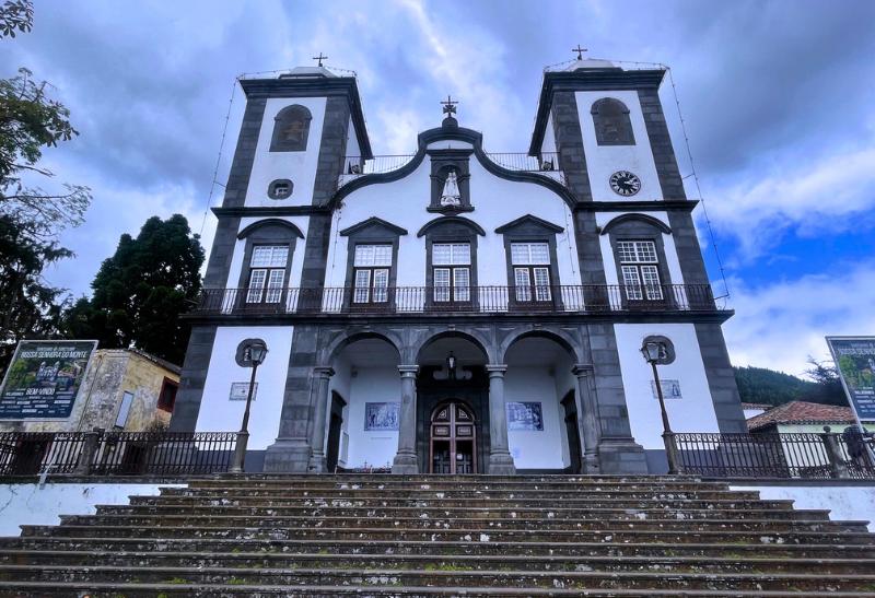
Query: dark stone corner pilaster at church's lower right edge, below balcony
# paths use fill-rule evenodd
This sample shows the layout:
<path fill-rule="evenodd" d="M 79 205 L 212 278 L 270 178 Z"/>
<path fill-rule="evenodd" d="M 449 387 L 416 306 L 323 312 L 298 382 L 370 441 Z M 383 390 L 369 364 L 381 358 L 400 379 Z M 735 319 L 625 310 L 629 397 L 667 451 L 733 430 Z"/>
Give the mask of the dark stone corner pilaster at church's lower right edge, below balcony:
<path fill-rule="evenodd" d="M 696 323 L 695 327 L 718 426 L 723 433 L 747 432 L 742 397 L 735 384 L 735 372 L 726 351 L 723 330 L 715 323 Z"/>

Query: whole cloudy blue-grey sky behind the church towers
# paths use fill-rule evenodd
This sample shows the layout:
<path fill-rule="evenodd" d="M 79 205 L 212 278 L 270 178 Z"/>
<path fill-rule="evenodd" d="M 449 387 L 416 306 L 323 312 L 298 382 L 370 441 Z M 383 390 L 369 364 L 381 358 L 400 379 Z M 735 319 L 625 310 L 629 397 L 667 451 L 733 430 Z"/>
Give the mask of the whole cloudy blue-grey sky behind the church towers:
<path fill-rule="evenodd" d="M 323 51 L 357 71 L 374 153 L 412 152 L 447 93 L 488 150 L 522 152 L 544 67 L 580 43 L 593 58 L 672 67 L 737 312 L 725 326 L 734 363 L 801 373 L 824 356 L 824 335 L 875 333 L 870 0 L 34 3 L 33 33 L 0 42 L 0 77 L 26 66 L 50 81 L 82 133 L 46 153 L 59 180 L 94 191 L 88 222 L 63 236 L 78 257 L 49 273 L 75 294 L 150 215 L 186 214 L 209 247 L 203 215 L 241 73 Z M 662 97 L 688 175 L 667 82 Z M 237 90 L 220 181 L 242 108 Z"/>

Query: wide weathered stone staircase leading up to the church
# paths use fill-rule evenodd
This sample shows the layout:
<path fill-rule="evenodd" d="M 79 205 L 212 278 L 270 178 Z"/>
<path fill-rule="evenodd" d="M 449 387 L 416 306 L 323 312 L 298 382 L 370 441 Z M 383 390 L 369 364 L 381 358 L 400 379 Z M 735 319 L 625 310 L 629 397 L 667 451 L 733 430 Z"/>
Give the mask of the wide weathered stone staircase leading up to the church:
<path fill-rule="evenodd" d="M 0 596 L 875 596 L 864 521 L 685 477 L 191 480 L 0 539 Z"/>

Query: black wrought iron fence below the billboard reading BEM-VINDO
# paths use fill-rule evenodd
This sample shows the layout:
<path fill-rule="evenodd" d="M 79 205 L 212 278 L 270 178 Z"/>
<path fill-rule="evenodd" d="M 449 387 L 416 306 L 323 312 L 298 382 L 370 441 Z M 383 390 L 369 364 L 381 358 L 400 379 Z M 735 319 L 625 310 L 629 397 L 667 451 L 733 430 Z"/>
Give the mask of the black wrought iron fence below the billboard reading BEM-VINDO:
<path fill-rule="evenodd" d="M 233 432 L 3 432 L 0 476 L 217 473 L 235 443 Z"/>

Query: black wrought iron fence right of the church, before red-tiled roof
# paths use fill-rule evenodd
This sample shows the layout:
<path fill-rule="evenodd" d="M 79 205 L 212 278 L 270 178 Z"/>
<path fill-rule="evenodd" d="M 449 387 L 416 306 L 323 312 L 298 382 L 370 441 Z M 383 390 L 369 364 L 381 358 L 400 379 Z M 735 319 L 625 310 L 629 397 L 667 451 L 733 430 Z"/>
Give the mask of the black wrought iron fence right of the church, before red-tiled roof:
<path fill-rule="evenodd" d="M 841 434 L 675 433 L 678 471 L 714 478 L 875 478 L 872 453 Z"/>

